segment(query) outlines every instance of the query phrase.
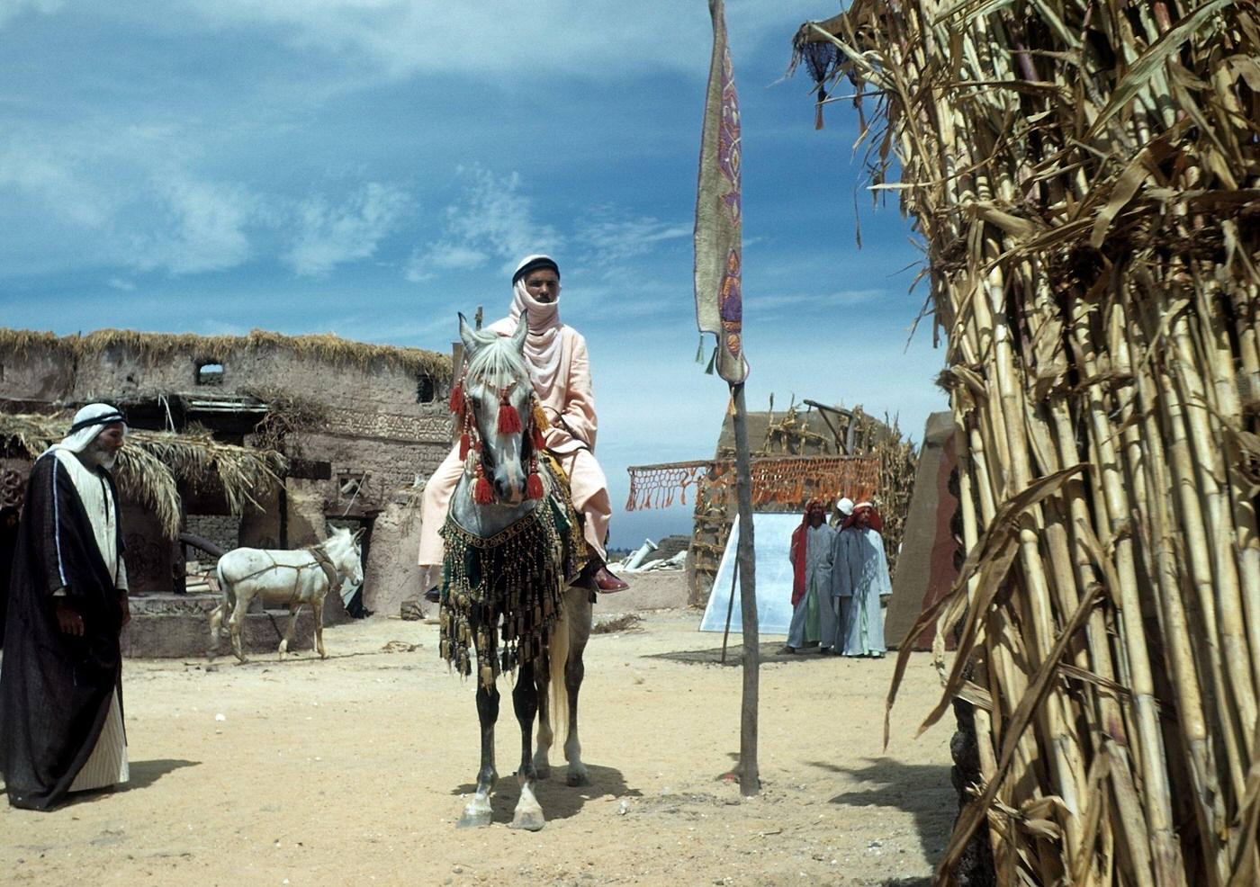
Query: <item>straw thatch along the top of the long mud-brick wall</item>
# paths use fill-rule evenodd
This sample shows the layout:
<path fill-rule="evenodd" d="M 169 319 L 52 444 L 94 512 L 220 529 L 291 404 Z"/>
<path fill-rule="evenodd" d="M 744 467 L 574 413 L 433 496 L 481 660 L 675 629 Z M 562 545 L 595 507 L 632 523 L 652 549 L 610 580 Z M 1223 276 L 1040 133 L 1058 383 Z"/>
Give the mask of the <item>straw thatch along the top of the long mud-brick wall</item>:
<path fill-rule="evenodd" d="M 190 354 L 199 360 L 222 362 L 229 354 L 273 348 L 331 364 L 359 368 L 386 364 L 412 374 L 425 373 L 440 381 L 451 378 L 451 358 L 447 354 L 420 348 L 350 341 L 331 333 L 281 335 L 267 330 L 252 330 L 248 335 L 194 335 L 107 329 L 86 335 L 58 336 L 53 333 L 0 329 L 0 350 L 24 354 L 32 349 L 45 348 L 59 349 L 73 357 L 92 357 L 121 348 L 149 364 Z"/>

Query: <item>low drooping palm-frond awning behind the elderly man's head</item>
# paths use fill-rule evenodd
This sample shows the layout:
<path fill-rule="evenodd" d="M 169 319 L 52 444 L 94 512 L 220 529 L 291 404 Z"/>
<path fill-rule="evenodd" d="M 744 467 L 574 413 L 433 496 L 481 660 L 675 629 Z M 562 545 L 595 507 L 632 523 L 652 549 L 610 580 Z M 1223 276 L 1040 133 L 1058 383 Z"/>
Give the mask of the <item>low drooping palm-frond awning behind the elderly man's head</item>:
<path fill-rule="evenodd" d="M 68 415 L 0 413 L 0 446 L 37 459 L 62 440 L 69 425 Z M 163 532 L 174 539 L 180 530 L 179 480 L 203 483 L 214 478 L 228 508 L 239 514 L 247 503 L 257 505 L 255 494 L 278 483 L 284 470 L 285 459 L 275 450 L 220 444 L 209 432 L 131 430 L 115 476 L 127 495 L 152 509 Z"/>

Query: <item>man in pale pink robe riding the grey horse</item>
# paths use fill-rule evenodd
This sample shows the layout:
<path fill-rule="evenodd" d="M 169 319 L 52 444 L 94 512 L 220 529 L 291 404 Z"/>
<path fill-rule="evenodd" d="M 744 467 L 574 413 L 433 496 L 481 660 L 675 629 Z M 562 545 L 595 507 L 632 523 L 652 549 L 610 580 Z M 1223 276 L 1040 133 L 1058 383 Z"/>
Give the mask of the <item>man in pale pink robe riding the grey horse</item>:
<path fill-rule="evenodd" d="M 559 266 L 549 256 L 527 256 L 512 276 L 512 307 L 508 316 L 490 325 L 499 335 L 512 335 L 520 318 L 528 319 L 525 364 L 538 399 L 551 422 L 547 449 L 568 475 L 573 508 L 583 518 L 583 534 L 591 554 L 590 578 L 598 591 L 629 587 L 609 572 L 604 548 L 612 519 L 609 484 L 595 459 L 595 393 L 586 339 L 559 319 Z M 436 568 L 442 562 L 438 530 L 446 520 L 451 494 L 464 471 L 459 447 L 454 447 L 428 479 L 421 505 L 420 566 Z"/>

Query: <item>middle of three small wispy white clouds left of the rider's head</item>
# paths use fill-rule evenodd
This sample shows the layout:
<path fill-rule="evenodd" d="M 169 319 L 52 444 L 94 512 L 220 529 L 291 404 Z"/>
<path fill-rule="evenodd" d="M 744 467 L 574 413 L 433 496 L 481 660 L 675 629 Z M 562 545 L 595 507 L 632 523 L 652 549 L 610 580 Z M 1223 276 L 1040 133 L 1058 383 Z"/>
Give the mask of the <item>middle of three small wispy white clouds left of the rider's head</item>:
<path fill-rule="evenodd" d="M 312 197 L 297 208 L 297 234 L 282 261 L 302 276 L 323 276 L 338 265 L 367 258 L 411 204 L 394 186 L 368 183 L 340 207 Z"/>

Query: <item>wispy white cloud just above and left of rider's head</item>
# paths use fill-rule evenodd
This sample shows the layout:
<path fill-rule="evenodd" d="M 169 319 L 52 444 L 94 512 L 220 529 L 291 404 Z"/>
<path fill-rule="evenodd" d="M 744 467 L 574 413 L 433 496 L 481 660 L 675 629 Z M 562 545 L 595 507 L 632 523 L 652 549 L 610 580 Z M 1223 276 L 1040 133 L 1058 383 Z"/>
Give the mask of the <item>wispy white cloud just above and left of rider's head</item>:
<path fill-rule="evenodd" d="M 432 270 L 476 268 L 491 258 L 510 271 L 523 256 L 553 253 L 563 244 L 553 226 L 534 219 L 533 200 L 517 173 L 499 176 L 480 165 L 455 173 L 464 190 L 444 213 L 441 237 L 412 253 L 407 280 L 428 280 Z"/>

